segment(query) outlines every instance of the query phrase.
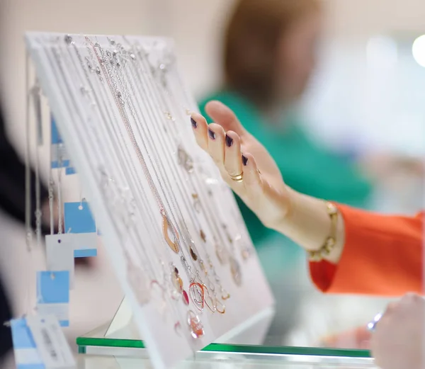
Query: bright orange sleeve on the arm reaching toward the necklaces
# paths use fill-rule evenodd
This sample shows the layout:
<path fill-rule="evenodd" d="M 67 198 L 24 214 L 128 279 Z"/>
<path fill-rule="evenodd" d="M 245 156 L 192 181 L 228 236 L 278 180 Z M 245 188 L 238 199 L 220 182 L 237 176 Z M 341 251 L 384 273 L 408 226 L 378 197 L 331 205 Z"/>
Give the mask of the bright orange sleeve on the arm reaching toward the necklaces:
<path fill-rule="evenodd" d="M 380 215 L 339 205 L 346 243 L 338 265 L 310 262 L 313 283 L 327 293 L 397 296 L 424 293 L 424 213 Z"/>

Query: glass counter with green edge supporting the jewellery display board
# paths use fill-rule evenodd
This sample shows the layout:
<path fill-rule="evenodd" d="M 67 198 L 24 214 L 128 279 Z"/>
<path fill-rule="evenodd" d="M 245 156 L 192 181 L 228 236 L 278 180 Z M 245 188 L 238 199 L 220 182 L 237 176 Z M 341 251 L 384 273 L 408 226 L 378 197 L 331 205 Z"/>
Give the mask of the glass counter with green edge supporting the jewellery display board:
<path fill-rule="evenodd" d="M 107 336 L 109 324 L 77 339 L 79 368 L 152 368 L 140 339 Z M 210 344 L 178 368 L 375 368 L 369 351 L 273 345 L 267 337 L 261 345 Z"/>

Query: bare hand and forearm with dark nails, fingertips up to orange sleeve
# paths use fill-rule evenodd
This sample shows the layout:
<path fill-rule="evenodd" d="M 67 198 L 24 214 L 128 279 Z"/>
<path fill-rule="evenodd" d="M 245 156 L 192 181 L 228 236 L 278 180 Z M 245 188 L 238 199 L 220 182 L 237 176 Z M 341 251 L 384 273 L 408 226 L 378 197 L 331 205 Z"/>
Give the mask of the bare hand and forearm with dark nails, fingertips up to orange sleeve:
<path fill-rule="evenodd" d="M 193 114 L 193 132 L 230 188 L 263 225 L 285 234 L 304 249 L 321 249 L 331 228 L 327 204 L 286 186 L 276 162 L 227 106 L 211 101 L 205 110 L 215 123 L 208 125 L 202 115 Z M 242 181 L 235 180 L 241 177 Z M 337 263 L 343 245 L 344 220 L 339 217 L 336 244 L 326 259 Z"/>

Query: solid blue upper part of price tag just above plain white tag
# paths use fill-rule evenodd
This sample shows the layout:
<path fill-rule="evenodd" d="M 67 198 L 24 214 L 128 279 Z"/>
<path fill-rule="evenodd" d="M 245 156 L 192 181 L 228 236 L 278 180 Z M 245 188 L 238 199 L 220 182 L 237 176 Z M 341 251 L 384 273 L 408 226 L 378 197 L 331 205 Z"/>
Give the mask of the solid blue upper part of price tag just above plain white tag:
<path fill-rule="evenodd" d="M 96 222 L 86 201 L 64 203 L 65 232 L 96 233 Z"/>

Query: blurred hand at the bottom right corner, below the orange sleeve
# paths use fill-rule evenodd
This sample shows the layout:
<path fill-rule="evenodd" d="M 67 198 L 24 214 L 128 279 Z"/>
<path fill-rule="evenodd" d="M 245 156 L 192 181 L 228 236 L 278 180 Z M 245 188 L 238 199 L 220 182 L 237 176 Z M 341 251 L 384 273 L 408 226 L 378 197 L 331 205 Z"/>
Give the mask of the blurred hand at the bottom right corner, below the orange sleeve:
<path fill-rule="evenodd" d="M 425 300 L 405 295 L 388 305 L 372 334 L 375 363 L 382 369 L 423 369 Z"/>

